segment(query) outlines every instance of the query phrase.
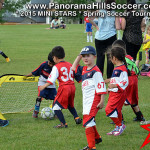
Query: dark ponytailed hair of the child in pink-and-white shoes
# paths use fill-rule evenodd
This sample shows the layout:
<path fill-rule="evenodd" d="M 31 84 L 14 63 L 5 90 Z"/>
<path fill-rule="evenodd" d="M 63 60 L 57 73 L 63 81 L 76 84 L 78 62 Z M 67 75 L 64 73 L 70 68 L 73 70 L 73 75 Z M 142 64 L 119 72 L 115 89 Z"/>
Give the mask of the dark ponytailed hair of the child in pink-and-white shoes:
<path fill-rule="evenodd" d="M 130 76 L 131 72 L 127 67 L 127 62 L 126 62 L 126 59 L 125 59 L 125 56 L 126 56 L 125 49 L 121 46 L 112 47 L 111 50 L 110 50 L 110 57 L 113 58 L 113 56 L 116 57 L 118 60 L 124 62 L 125 66 L 127 68 L 127 71 L 128 71 L 128 76 Z"/>

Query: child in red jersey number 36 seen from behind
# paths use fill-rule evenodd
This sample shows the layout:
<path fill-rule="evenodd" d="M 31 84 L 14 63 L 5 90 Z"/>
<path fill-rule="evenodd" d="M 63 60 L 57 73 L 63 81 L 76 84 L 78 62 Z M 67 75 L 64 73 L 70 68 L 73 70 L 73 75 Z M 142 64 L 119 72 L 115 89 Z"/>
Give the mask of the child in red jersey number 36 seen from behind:
<path fill-rule="evenodd" d="M 65 51 L 61 46 L 53 48 L 52 57 L 56 65 L 53 67 L 47 83 L 41 86 L 40 90 L 42 91 L 47 86 L 53 85 L 56 79 L 59 81 L 58 93 L 54 100 L 53 110 L 61 124 L 58 124 L 55 128 L 68 127 L 61 109 L 69 109 L 70 113 L 74 116 L 76 124 L 81 124 L 82 119 L 78 116 L 74 107 L 75 85 L 72 64 L 64 61 Z"/>

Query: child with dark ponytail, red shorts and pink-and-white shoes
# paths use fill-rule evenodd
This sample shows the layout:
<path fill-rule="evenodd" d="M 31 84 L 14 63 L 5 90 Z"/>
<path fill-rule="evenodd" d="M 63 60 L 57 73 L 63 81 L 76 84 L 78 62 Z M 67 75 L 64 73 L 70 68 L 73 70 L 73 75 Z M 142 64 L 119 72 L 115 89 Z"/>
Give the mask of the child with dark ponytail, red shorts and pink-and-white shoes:
<path fill-rule="evenodd" d="M 126 100 L 126 87 L 128 86 L 128 71 L 125 60 L 126 52 L 122 47 L 112 47 L 110 58 L 116 66 L 108 84 L 109 98 L 105 108 L 106 115 L 115 123 L 116 127 L 107 135 L 118 136 L 126 126 L 122 123 L 122 107 Z"/>

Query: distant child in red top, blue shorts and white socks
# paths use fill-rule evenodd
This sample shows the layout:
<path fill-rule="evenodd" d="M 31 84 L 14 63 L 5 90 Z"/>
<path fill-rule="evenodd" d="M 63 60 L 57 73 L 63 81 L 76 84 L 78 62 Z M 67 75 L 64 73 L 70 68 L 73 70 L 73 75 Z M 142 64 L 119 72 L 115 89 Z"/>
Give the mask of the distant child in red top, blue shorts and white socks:
<path fill-rule="evenodd" d="M 93 26 L 90 23 L 89 18 L 87 16 L 84 18 L 84 24 L 85 24 L 85 30 L 87 32 L 87 42 L 90 41 L 93 42 L 93 36 L 92 36 Z"/>

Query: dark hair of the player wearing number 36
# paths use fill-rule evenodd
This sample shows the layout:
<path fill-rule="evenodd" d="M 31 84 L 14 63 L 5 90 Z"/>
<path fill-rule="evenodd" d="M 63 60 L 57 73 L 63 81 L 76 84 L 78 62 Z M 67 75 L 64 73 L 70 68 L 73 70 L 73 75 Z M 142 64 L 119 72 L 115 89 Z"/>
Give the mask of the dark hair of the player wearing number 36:
<path fill-rule="evenodd" d="M 63 59 L 65 57 L 64 48 L 61 46 L 56 46 L 52 49 L 52 56 L 56 56 L 58 59 Z"/>

